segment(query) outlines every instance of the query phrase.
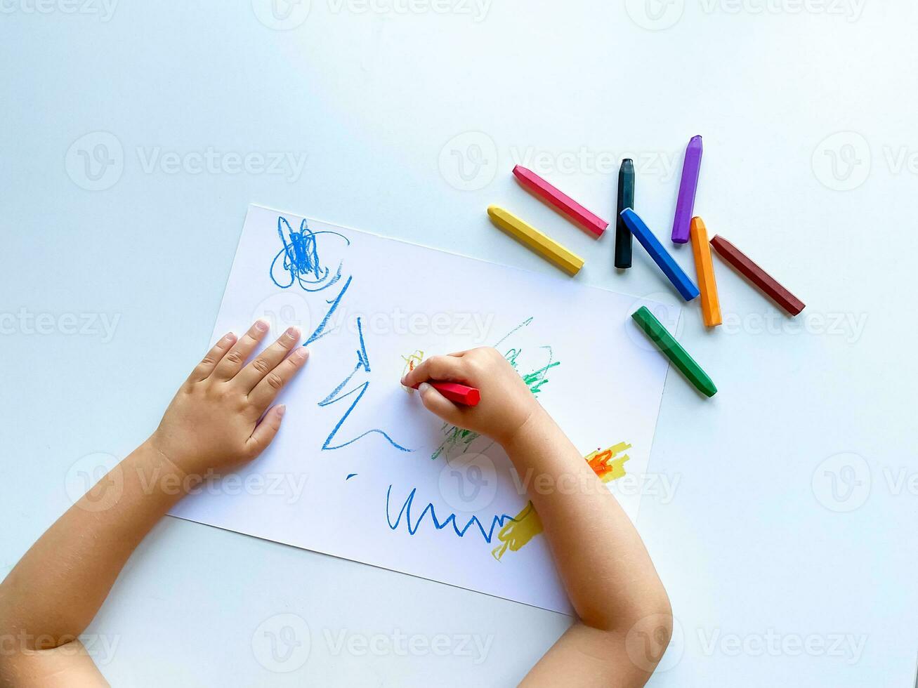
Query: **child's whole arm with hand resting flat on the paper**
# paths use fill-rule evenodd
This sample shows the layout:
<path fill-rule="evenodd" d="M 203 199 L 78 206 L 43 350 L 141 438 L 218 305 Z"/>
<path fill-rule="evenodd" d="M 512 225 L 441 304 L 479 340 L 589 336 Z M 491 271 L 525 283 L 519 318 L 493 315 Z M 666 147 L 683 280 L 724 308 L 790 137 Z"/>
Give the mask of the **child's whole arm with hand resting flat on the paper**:
<path fill-rule="evenodd" d="M 74 504 L 0 584 L 0 685 L 104 685 L 77 637 L 130 553 L 208 475 L 267 447 L 283 406 L 269 406 L 306 361 L 296 328 L 251 363 L 267 332 L 256 322 L 220 339 L 183 383 L 151 438 Z M 259 419 L 261 421 L 259 422 Z M 209 472 L 209 473 L 208 473 Z"/>

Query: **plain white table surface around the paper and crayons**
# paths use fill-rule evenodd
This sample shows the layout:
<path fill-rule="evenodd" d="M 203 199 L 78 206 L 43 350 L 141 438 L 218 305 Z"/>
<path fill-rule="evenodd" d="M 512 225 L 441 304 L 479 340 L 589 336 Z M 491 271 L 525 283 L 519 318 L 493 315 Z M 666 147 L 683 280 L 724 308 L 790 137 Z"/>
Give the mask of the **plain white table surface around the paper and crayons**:
<path fill-rule="evenodd" d="M 777 315 L 715 258 L 724 327 L 685 310 L 680 336 L 721 391 L 666 382 L 638 525 L 681 633 L 652 684 L 911 685 L 918 8 L 362 7 L 3 0 L 0 567 L 70 505 L 87 455 L 155 427 L 207 344 L 250 201 L 553 272 L 489 224 L 499 203 L 585 255 L 582 283 L 675 301 L 636 244 L 616 274 L 611 236 L 588 239 L 510 169 L 528 161 L 609 217 L 630 155 L 666 235 L 700 133 L 697 211 L 808 307 Z M 282 174 L 237 169 L 276 152 Z M 74 334 L 69 314 L 95 324 Z M 115 685 L 466 686 L 518 681 L 568 623 L 165 518 L 89 633 Z M 301 643 L 286 663 L 253 644 L 284 625 Z M 438 635 L 446 656 L 424 649 Z"/>

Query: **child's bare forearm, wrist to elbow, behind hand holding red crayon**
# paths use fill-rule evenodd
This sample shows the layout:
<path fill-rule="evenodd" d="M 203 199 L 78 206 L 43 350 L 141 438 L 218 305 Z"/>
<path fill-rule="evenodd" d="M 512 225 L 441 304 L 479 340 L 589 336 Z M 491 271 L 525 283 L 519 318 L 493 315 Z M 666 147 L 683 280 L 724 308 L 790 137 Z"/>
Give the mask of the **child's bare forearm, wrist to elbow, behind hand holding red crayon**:
<path fill-rule="evenodd" d="M 646 616 L 668 615 L 666 590 L 631 520 L 541 407 L 504 449 L 529 477 L 577 616 L 589 627 L 627 632 Z"/>

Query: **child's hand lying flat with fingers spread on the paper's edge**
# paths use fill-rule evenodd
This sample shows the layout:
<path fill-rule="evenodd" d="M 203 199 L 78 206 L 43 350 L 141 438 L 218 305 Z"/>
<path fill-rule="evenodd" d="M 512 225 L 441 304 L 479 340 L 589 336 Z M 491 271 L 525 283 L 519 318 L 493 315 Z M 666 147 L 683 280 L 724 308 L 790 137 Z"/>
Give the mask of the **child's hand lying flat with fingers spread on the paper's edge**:
<path fill-rule="evenodd" d="M 252 461 L 277 434 L 285 407 L 265 411 L 308 352 L 297 347 L 287 356 L 299 340 L 299 330 L 290 327 L 246 365 L 267 331 L 259 320 L 239 341 L 233 334 L 220 339 L 166 409 L 149 442 L 185 474 L 203 478 L 208 469 L 231 470 Z"/>

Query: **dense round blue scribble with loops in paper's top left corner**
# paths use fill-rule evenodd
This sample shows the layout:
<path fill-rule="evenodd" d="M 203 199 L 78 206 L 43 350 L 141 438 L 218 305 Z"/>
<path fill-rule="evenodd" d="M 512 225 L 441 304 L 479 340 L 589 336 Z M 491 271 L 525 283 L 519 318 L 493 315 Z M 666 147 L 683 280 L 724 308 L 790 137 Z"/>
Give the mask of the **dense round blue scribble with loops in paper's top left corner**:
<path fill-rule="evenodd" d="M 277 235 L 284 248 L 271 261 L 271 281 L 281 289 L 297 283 L 307 292 L 320 292 L 337 283 L 341 279 L 341 262 L 335 272 L 331 272 L 319 261 L 318 239 L 323 234 L 340 237 L 348 246 L 351 245 L 351 240 L 338 232 L 312 231 L 305 219 L 299 223 L 299 231 L 295 232 L 285 217 L 278 217 Z"/>

